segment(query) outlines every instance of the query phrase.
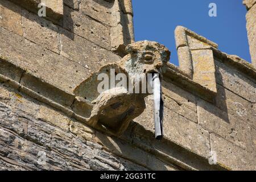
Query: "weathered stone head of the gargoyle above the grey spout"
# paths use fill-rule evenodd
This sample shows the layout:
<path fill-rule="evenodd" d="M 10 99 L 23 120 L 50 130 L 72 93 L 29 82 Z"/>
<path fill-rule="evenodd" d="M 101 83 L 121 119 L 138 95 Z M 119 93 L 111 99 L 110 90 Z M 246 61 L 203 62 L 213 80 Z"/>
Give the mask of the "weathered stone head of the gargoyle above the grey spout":
<path fill-rule="evenodd" d="M 137 73 L 161 73 L 161 68 L 170 60 L 171 54 L 163 45 L 149 41 L 130 44 L 126 51 L 131 55 L 132 67 L 137 69 Z"/>

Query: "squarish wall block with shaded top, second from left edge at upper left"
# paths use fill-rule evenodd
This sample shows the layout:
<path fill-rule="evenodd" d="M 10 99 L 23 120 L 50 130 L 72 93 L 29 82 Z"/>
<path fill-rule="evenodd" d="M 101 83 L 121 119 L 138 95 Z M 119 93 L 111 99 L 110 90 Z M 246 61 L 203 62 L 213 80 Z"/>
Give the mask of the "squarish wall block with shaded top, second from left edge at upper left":
<path fill-rule="evenodd" d="M 24 37 L 53 52 L 59 53 L 59 28 L 36 14 L 22 11 Z"/>

